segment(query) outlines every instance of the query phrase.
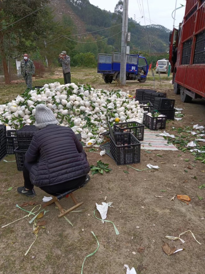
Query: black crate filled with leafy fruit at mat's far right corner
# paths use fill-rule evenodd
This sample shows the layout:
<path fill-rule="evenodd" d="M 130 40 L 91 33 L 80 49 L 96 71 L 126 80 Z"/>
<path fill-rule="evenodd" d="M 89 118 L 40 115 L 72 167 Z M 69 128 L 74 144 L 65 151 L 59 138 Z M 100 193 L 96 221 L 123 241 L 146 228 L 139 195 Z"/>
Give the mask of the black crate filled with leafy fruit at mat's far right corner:
<path fill-rule="evenodd" d="M 147 113 L 144 113 L 143 124 L 150 130 L 165 129 L 166 128 L 166 116 L 152 117 Z"/>

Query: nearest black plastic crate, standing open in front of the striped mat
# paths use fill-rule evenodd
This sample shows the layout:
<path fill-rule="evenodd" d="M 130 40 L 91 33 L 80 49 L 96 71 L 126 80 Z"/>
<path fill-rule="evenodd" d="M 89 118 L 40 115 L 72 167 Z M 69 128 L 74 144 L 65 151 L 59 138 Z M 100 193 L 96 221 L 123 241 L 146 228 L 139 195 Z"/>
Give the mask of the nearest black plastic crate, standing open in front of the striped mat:
<path fill-rule="evenodd" d="M 114 138 L 110 136 L 110 153 L 117 165 L 140 162 L 140 142 L 132 133 L 115 133 Z"/>

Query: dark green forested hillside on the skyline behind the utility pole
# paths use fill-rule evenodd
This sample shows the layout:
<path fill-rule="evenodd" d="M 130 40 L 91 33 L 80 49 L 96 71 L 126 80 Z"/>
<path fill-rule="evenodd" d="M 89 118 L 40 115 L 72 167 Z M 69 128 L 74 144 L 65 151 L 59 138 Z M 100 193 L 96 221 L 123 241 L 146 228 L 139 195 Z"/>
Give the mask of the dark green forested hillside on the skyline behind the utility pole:
<path fill-rule="evenodd" d="M 65 0 L 69 7 L 86 23 L 86 30 L 88 32 L 96 31 L 102 28 L 112 27 L 122 23 L 122 8 L 123 1 L 116 1 L 115 11 L 108 12 L 90 4 L 89 0 Z M 141 19 L 143 20 L 143 19 Z M 92 33 L 95 38 L 100 35 L 110 37 L 113 34 L 120 32 L 122 25 L 117 27 L 102 30 L 100 32 Z M 141 48 L 143 51 L 150 52 L 166 52 L 166 46 L 169 44 L 169 32 L 167 28 L 162 25 L 140 25 L 133 19 L 128 19 L 128 31 L 131 32 L 131 41 L 129 43 L 131 50 Z M 146 34 L 147 31 L 147 34 Z M 121 33 L 108 39 L 108 45 L 112 45 L 116 51 L 120 50 Z"/>

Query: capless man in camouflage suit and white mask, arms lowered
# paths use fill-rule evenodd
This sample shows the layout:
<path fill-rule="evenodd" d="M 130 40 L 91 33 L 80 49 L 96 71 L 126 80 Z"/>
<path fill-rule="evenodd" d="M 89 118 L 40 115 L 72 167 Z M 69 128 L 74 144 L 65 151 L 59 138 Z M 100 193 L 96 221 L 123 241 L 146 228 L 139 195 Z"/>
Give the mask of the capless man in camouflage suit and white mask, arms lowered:
<path fill-rule="evenodd" d="M 21 75 L 23 75 L 28 89 L 32 89 L 32 75 L 35 73 L 35 66 L 28 58 L 28 54 L 24 54 L 24 59 L 21 60 Z"/>

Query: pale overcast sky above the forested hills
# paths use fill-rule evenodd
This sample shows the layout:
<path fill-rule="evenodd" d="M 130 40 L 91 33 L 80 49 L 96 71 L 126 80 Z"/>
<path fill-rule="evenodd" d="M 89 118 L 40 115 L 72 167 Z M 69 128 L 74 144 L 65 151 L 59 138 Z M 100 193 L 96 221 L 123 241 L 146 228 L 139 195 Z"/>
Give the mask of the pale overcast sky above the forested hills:
<path fill-rule="evenodd" d="M 116 4 L 118 3 L 118 0 L 89 0 L 90 4 L 98 6 L 102 10 L 110 10 L 111 12 L 114 12 L 114 8 Z M 145 21 L 142 17 L 143 14 L 143 7 L 142 7 L 142 1 L 143 1 L 143 7 L 144 7 L 144 13 L 145 13 Z M 140 6 L 138 6 L 138 3 L 141 5 L 142 9 L 139 9 Z M 148 3 L 148 5 L 147 5 Z M 129 0 L 128 3 L 128 16 L 135 18 L 137 22 L 140 22 L 140 25 L 149 25 L 150 19 L 152 24 L 159 24 L 163 25 L 166 28 L 169 28 L 172 30 L 173 28 L 173 22 L 172 19 L 172 11 L 175 9 L 175 0 Z M 177 8 L 181 5 L 185 5 L 185 0 L 177 0 Z M 149 12 L 148 12 L 148 6 L 150 10 L 150 19 L 149 19 Z M 141 13 L 140 13 L 141 11 Z M 180 22 L 182 22 L 184 17 L 185 7 L 180 8 L 179 10 L 176 10 L 176 16 L 175 16 L 175 26 L 178 28 L 178 25 Z M 174 17 L 174 13 L 173 13 Z"/>

